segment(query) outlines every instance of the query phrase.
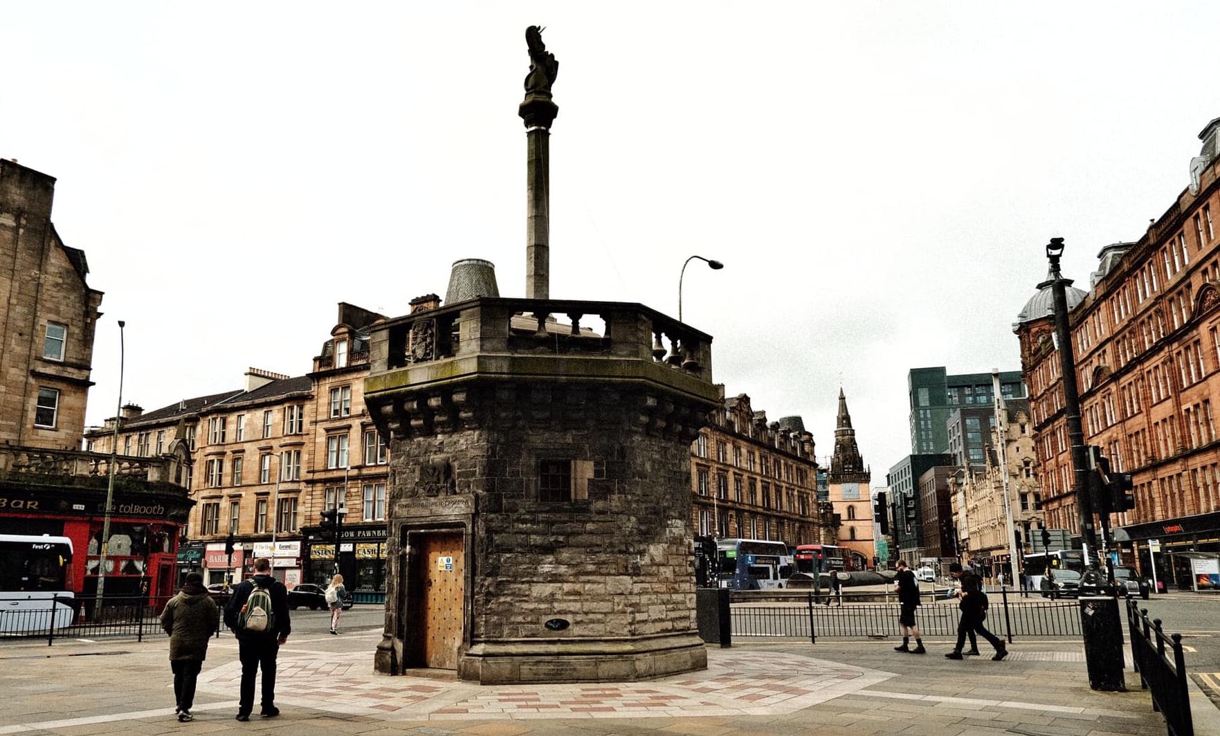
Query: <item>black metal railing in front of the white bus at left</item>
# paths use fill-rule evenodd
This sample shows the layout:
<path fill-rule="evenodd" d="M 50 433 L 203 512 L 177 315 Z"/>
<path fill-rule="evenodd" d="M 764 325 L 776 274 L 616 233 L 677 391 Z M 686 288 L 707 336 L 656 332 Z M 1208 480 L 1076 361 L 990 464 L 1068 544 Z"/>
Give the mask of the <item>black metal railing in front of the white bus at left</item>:
<path fill-rule="evenodd" d="M 106 596 L 100 607 L 89 597 L 0 598 L 0 646 L 5 640 L 45 639 L 51 646 L 63 639 L 163 636 L 161 612 L 172 597 Z"/>

